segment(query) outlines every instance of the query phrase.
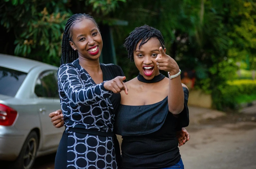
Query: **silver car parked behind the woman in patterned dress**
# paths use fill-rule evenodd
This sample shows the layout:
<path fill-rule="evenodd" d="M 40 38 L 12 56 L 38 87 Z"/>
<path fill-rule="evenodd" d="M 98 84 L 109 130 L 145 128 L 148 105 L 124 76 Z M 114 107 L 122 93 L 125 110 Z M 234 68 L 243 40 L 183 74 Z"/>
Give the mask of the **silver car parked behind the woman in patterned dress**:
<path fill-rule="evenodd" d="M 0 160 L 30 169 L 35 158 L 55 152 L 63 129 L 49 113 L 60 109 L 58 68 L 0 54 Z"/>

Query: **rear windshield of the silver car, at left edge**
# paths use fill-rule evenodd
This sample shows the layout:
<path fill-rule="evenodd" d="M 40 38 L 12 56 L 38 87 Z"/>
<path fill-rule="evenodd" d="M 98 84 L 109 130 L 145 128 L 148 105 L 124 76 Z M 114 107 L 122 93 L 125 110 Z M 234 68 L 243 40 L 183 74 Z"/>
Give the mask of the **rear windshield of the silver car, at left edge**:
<path fill-rule="evenodd" d="M 0 66 L 0 94 L 14 97 L 27 73 Z"/>

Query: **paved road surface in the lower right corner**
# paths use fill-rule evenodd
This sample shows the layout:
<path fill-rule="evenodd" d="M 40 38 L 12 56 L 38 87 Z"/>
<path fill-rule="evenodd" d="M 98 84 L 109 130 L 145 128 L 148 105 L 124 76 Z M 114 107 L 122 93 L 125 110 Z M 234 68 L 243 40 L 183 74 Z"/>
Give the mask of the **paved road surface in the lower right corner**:
<path fill-rule="evenodd" d="M 205 125 L 180 152 L 187 169 L 256 169 L 255 140 L 255 122 Z"/>

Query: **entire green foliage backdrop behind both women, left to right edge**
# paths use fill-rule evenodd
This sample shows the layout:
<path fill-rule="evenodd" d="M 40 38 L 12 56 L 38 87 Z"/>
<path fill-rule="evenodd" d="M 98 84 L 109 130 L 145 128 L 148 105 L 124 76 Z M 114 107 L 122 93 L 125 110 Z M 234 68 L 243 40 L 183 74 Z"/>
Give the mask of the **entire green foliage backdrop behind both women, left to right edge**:
<path fill-rule="evenodd" d="M 182 71 L 195 70 L 196 88 L 212 94 L 219 110 L 235 105 L 229 97 L 235 94 L 228 93 L 238 89 L 229 89 L 228 81 L 237 78 L 237 62 L 243 63 L 240 69 L 256 69 L 255 0 L 4 0 L 0 24 L 14 39 L 8 38 L 4 49 L 14 43 L 15 55 L 59 65 L 66 20 L 78 12 L 112 25 L 117 62 L 128 80 L 138 70 L 127 59 L 125 38 L 144 24 L 159 29 L 167 54 Z M 117 20 L 128 26 L 115 25 Z"/>

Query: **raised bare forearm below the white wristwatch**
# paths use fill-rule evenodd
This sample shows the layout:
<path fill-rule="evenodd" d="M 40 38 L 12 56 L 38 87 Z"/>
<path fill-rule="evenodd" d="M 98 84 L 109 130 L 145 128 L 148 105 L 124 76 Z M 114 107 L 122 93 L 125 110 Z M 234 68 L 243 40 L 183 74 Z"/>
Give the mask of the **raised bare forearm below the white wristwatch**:
<path fill-rule="evenodd" d="M 173 114 L 179 114 L 184 108 L 184 92 L 180 75 L 169 79 L 168 105 L 169 111 Z"/>

